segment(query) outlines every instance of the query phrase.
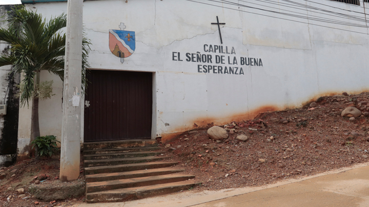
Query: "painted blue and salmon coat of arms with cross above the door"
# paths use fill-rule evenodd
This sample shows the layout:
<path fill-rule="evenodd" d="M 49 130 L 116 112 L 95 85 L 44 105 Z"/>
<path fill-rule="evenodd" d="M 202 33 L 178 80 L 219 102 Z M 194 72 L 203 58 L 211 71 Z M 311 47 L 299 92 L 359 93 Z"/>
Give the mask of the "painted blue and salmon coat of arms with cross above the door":
<path fill-rule="evenodd" d="M 126 26 L 123 23 L 120 23 L 119 28 L 120 30 L 109 30 L 109 48 L 123 63 L 136 49 L 136 37 L 135 32 L 124 30 Z"/>

